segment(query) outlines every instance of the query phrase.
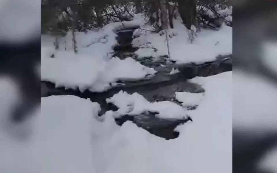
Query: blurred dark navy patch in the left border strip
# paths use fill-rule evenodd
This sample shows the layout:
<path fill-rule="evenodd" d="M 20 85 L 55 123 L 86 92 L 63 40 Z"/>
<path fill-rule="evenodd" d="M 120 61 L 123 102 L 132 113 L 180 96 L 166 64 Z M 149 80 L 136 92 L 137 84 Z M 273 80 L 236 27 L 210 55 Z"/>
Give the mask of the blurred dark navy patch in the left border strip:
<path fill-rule="evenodd" d="M 0 73 L 15 80 L 22 102 L 12 110 L 11 120 L 22 122 L 40 105 L 40 37 L 23 43 L 0 43 Z"/>

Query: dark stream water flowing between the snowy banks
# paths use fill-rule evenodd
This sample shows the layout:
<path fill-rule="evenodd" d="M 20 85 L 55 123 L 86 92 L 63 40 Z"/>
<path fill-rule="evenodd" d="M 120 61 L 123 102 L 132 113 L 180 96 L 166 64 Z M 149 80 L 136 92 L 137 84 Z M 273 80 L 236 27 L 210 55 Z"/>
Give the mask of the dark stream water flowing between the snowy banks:
<path fill-rule="evenodd" d="M 131 45 L 133 31 L 134 28 L 124 29 L 123 31 L 118 32 L 117 41 L 119 46 L 114 48 L 115 56 L 121 59 L 132 57 L 145 66 L 153 67 L 156 71 L 158 71 L 158 73 L 153 78 L 136 82 L 118 81 L 124 83 L 125 85 L 116 86 L 102 93 L 93 93 L 88 90 L 81 93 L 80 91 L 74 91 L 72 89 L 55 88 L 55 84 L 42 81 L 42 97 L 47 97 L 50 95 L 75 95 L 81 98 L 89 98 L 92 102 L 98 102 L 100 104 L 101 111 L 99 116 L 108 110 L 116 111 L 118 109 L 112 104 L 107 104 L 106 99 L 112 97 L 120 90 L 126 91 L 129 94 L 137 92 L 143 95 L 143 97 L 145 97 L 145 99 L 148 101 L 167 100 L 181 105 L 181 103 L 174 99 L 175 92 L 205 92 L 205 89 L 203 89 L 199 84 L 190 83 L 188 82 L 188 79 L 194 78 L 196 76 L 205 77 L 215 75 L 232 70 L 231 55 L 224 57 L 219 56 L 217 57 L 216 61 L 206 62 L 198 65 L 193 63 L 177 65 L 175 62 L 169 61 L 167 57 L 160 57 L 156 59 L 145 58 L 138 60 L 134 55 L 134 51 L 137 49 L 132 48 Z M 173 67 L 177 68 L 180 72 L 174 75 L 168 75 Z M 197 106 L 187 109 L 197 109 Z M 115 121 L 118 125 L 122 125 L 126 121 L 132 121 L 137 126 L 149 131 L 149 133 L 160 136 L 167 140 L 177 138 L 179 136 L 179 132 L 174 131 L 175 127 L 189 121 L 188 118 L 161 119 L 156 117 L 155 114 L 156 112 L 145 112 L 136 116 L 123 115 L 121 118 L 115 119 Z"/>

